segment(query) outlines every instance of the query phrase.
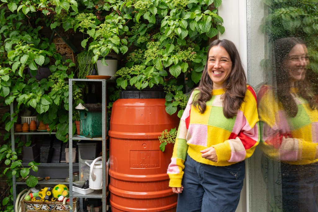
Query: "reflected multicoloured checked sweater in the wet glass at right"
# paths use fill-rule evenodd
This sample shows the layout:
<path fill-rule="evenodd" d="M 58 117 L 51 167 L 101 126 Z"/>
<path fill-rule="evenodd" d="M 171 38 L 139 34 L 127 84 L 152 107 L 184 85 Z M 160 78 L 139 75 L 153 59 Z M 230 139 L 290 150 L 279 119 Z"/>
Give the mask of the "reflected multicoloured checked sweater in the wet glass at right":
<path fill-rule="evenodd" d="M 260 149 L 273 160 L 301 165 L 318 162 L 318 110 L 312 110 L 297 92 L 291 89 L 298 113 L 290 118 L 277 100 L 273 87 L 263 85 L 260 88 Z"/>

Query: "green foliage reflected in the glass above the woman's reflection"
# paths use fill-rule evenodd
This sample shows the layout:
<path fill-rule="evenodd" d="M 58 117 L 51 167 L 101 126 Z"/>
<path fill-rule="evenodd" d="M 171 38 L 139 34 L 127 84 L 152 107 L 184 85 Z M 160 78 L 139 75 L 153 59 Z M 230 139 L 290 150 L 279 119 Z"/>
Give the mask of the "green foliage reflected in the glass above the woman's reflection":
<path fill-rule="evenodd" d="M 262 26 L 271 40 L 297 37 L 307 45 L 310 68 L 318 73 L 318 4 L 316 0 L 264 0 L 269 15 Z"/>

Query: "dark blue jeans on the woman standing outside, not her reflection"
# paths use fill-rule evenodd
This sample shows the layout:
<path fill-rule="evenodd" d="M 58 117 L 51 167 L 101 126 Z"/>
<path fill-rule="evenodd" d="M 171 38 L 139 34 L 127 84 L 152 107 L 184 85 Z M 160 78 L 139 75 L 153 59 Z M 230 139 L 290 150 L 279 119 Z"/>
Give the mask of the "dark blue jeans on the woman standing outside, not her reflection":
<path fill-rule="evenodd" d="M 178 212 L 236 210 L 245 177 L 245 161 L 219 167 L 198 163 L 188 155 L 184 166 Z"/>

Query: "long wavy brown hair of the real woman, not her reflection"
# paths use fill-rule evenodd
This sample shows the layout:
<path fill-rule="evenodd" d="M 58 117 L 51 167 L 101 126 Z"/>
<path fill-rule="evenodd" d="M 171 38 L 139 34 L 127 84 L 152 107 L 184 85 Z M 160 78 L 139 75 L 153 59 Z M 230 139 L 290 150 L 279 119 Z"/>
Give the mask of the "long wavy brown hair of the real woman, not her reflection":
<path fill-rule="evenodd" d="M 206 64 L 202 72 L 201 80 L 199 83 L 199 93 L 196 95 L 193 105 L 197 106 L 200 113 L 204 113 L 206 109 L 206 102 L 212 97 L 213 82 L 208 74 L 208 58 L 210 49 L 213 46 L 222 46 L 230 55 L 232 61 L 232 71 L 230 76 L 223 84 L 225 94 L 223 99 L 223 114 L 226 118 L 233 118 L 237 115 L 237 112 L 244 100 L 246 92 L 246 76 L 242 65 L 239 51 L 232 41 L 223 39 L 213 41 L 208 49 L 206 55 Z"/>

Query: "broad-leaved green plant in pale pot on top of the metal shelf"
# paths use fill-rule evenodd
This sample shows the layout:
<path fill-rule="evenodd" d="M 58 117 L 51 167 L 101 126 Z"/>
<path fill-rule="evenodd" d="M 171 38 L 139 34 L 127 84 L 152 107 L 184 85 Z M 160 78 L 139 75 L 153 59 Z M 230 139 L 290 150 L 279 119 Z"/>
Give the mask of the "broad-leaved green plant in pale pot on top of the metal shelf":
<path fill-rule="evenodd" d="M 109 12 L 103 23 L 93 14 L 81 13 L 76 16 L 79 31 L 88 36 L 81 45 L 83 48 L 88 46 L 88 51 L 93 53 L 92 62 L 97 63 L 99 75 L 113 76 L 117 70 L 117 60 L 111 55 L 124 54 L 128 51 L 127 39 L 119 36 L 128 31 L 125 24 L 131 17 L 128 14 L 119 15 L 117 7 L 118 5 L 111 5 L 114 10 Z M 103 66 L 106 66 L 106 71 L 103 71 L 105 69 Z"/>

